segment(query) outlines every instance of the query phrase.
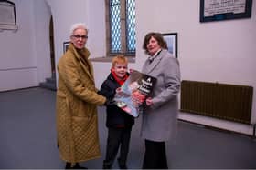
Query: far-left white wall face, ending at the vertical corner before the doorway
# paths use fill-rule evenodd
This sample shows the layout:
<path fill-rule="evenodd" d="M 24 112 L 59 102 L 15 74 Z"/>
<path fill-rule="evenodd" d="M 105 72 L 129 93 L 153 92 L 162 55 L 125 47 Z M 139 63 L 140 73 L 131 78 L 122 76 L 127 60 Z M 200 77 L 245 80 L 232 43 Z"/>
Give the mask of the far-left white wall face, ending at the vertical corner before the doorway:
<path fill-rule="evenodd" d="M 18 30 L 0 32 L 0 91 L 37 85 L 37 61 L 31 35 L 33 3 L 18 0 L 14 3 Z"/>

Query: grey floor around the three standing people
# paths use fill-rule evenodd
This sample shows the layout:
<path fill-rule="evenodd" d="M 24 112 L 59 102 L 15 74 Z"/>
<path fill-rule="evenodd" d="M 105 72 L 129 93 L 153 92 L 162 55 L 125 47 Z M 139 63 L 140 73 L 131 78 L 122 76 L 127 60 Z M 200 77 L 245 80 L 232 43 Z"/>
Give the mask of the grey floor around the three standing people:
<path fill-rule="evenodd" d="M 0 93 L 0 168 L 62 169 L 56 145 L 55 91 L 28 88 Z M 99 107 L 101 158 L 82 163 L 101 169 L 107 128 L 105 110 Z M 133 126 L 127 165 L 142 166 L 144 140 L 139 136 L 141 119 Z M 166 143 L 172 169 L 255 169 L 256 141 L 250 136 L 178 122 L 175 143 Z M 118 168 L 117 164 L 113 168 Z"/>

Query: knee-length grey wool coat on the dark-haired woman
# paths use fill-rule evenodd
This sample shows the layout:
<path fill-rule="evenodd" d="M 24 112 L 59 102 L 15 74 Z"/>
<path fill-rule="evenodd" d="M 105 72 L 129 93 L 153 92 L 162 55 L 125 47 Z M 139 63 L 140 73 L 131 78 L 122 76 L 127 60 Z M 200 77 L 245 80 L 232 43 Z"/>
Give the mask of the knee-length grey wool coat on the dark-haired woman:
<path fill-rule="evenodd" d="M 153 89 L 153 104 L 145 108 L 141 136 L 163 142 L 176 135 L 177 95 L 180 90 L 180 69 L 175 56 L 163 49 L 150 63 L 147 59 L 142 72 L 157 78 Z"/>

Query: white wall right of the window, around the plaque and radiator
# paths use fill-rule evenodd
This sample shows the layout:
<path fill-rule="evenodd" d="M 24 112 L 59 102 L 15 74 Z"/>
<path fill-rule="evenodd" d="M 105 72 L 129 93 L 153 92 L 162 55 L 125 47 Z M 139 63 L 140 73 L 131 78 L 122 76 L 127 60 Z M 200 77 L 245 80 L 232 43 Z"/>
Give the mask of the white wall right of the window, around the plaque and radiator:
<path fill-rule="evenodd" d="M 255 10 L 254 3 L 249 19 L 200 23 L 199 1 L 136 1 L 137 48 L 142 46 L 143 37 L 149 31 L 177 32 L 182 79 L 251 85 L 255 89 Z M 138 51 L 137 54 L 144 55 L 142 51 Z M 143 61 L 144 59 L 140 58 L 139 63 Z M 255 99 L 254 95 L 251 117 L 254 123 Z M 252 128 L 248 125 L 198 115 L 180 114 L 179 117 L 199 124 L 252 134 Z"/>

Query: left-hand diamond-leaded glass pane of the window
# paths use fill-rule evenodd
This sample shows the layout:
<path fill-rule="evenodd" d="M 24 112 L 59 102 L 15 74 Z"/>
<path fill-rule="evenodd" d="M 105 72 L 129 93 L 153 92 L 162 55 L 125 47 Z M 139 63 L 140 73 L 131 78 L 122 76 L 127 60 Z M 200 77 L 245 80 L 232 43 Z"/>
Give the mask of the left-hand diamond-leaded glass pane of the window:
<path fill-rule="evenodd" d="M 111 51 L 121 53 L 121 4 L 120 0 L 110 0 Z"/>

